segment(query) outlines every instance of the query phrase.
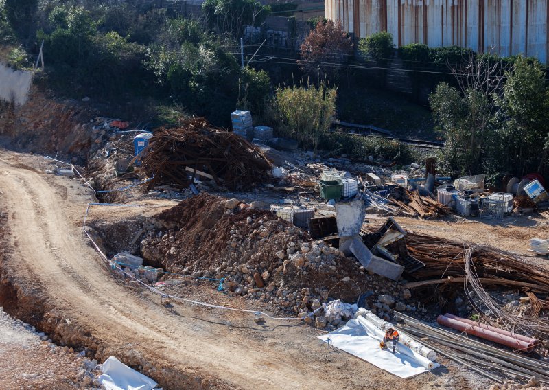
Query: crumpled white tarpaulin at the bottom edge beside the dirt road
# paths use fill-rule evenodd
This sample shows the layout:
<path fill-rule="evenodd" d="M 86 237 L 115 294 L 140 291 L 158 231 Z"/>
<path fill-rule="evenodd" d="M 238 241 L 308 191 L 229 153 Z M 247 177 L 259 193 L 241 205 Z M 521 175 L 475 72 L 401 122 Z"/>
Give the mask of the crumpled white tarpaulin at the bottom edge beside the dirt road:
<path fill-rule="evenodd" d="M 102 375 L 98 378 L 107 390 L 152 390 L 156 382 L 135 369 L 131 369 L 114 356 L 101 365 Z"/>

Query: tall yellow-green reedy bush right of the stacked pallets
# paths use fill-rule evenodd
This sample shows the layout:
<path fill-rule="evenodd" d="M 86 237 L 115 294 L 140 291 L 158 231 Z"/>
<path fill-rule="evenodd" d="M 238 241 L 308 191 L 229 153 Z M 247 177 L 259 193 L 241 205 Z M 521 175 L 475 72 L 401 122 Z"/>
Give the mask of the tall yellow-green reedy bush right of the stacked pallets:
<path fill-rule="evenodd" d="M 305 148 L 318 151 L 320 137 L 327 133 L 336 113 L 335 88 L 324 84 L 277 88 L 274 105 L 279 119 L 279 133 L 293 137 Z"/>

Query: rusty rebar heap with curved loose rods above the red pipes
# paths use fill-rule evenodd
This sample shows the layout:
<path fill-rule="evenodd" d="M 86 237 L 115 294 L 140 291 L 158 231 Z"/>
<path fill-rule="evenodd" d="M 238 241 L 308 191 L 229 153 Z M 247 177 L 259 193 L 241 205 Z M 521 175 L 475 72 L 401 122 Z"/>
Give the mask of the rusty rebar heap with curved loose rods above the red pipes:
<path fill-rule="evenodd" d="M 539 318 L 541 310 L 549 309 L 549 276 L 541 269 L 487 246 L 468 246 L 420 234 L 408 234 L 407 244 L 411 255 L 425 267 L 413 273 L 416 281 L 405 284 L 405 288 L 434 286 L 439 305 L 445 307 L 448 301 L 444 292 L 465 286 L 471 306 L 498 325 L 526 334 L 549 334 L 549 323 Z M 501 308 L 500 302 L 487 292 L 487 286 L 522 290 L 528 310 L 513 314 L 511 307 Z M 464 304 L 462 299 L 459 303 Z"/>

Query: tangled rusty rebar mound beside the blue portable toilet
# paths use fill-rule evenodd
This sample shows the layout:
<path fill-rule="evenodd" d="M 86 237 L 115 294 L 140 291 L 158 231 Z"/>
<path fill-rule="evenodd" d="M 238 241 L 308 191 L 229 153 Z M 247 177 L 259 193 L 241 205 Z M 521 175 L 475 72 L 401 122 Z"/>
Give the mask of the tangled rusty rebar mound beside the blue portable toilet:
<path fill-rule="evenodd" d="M 256 146 L 202 118 L 156 130 L 142 160 L 142 169 L 153 176 L 149 188 L 188 187 L 199 179 L 240 190 L 267 181 L 271 168 Z"/>

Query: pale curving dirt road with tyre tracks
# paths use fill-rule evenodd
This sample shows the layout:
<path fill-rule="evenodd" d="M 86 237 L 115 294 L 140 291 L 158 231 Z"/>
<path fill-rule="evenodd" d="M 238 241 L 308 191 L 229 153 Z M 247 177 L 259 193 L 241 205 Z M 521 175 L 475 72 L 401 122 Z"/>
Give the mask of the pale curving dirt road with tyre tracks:
<path fill-rule="evenodd" d="M 17 305 L 43 299 L 44 310 L 55 312 L 44 323 L 48 318 L 58 337 L 96 345 L 100 358 L 113 354 L 141 365 L 167 389 L 475 387 L 455 367 L 452 376 L 442 375 L 443 368 L 399 380 L 320 345 L 307 325 L 268 321 L 261 327 L 247 314 L 167 310 L 158 297 L 132 291 L 111 275 L 80 229 L 91 191 L 75 179 L 43 173 L 46 164 L 0 150 L 0 211 L 7 215 L 1 248 L 4 275 L 14 278 L 19 295 L 28 294 Z"/>

